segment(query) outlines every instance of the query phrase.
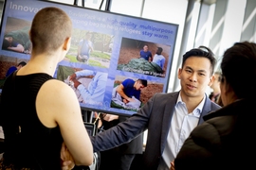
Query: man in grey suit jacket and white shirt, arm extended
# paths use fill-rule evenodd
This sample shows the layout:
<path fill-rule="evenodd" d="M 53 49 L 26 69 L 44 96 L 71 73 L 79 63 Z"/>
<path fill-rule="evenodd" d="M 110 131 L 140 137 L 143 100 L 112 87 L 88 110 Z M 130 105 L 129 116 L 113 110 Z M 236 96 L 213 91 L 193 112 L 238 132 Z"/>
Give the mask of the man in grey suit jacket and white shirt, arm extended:
<path fill-rule="evenodd" d="M 178 70 L 181 90 L 155 95 L 125 122 L 91 137 L 94 151 L 107 150 L 125 144 L 148 129 L 143 167 L 167 170 L 180 147 L 194 127 L 203 123 L 203 116 L 220 106 L 211 102 L 206 89 L 214 80 L 216 63 L 205 46 L 183 55 Z"/>

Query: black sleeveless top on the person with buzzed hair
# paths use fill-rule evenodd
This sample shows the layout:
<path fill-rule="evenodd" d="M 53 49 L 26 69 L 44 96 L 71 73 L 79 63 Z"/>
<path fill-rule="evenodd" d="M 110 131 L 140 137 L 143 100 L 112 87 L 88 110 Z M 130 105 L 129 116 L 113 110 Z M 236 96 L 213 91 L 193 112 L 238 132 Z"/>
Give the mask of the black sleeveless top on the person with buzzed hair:
<path fill-rule="evenodd" d="M 38 91 L 53 77 L 46 74 L 12 75 L 7 78 L 1 94 L 5 163 L 44 170 L 61 169 L 63 137 L 60 127 L 45 127 L 35 107 Z"/>

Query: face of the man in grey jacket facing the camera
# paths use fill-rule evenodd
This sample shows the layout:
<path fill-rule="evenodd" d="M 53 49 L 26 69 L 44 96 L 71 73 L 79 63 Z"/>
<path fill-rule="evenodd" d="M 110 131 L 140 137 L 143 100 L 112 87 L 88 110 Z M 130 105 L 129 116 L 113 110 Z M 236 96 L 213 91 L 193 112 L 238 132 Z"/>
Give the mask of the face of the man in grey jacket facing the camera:
<path fill-rule="evenodd" d="M 210 75 L 210 60 L 200 57 L 190 57 L 178 71 L 181 84 L 181 95 L 187 97 L 203 97 L 207 86 L 210 86 L 213 76 Z"/>

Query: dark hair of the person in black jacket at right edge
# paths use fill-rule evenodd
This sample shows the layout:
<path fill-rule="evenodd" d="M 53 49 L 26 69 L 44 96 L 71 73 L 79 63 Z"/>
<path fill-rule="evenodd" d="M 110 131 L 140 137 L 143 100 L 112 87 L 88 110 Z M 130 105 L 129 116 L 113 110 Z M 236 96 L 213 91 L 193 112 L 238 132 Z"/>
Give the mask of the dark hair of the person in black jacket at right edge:
<path fill-rule="evenodd" d="M 236 42 L 225 51 L 222 76 L 238 98 L 256 96 L 256 43 Z"/>

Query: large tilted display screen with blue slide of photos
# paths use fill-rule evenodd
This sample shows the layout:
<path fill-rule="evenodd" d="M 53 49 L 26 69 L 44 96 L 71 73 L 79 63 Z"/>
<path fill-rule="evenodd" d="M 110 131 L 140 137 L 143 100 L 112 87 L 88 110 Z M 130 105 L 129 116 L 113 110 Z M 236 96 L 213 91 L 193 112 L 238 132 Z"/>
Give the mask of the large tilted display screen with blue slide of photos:
<path fill-rule="evenodd" d="M 71 47 L 54 76 L 74 90 L 83 110 L 132 115 L 155 93 L 167 92 L 177 25 L 51 1 L 5 1 L 0 34 L 0 79 L 5 78 L 11 64 L 29 60 L 32 45 L 29 27 L 34 15 L 46 7 L 62 8 L 72 20 Z M 7 40 L 13 45 L 22 44 L 25 50 L 10 50 Z M 144 45 L 148 46 L 153 60 L 140 58 Z M 162 65 L 154 60 L 158 47 L 162 48 Z M 78 72 L 77 80 L 82 85 L 75 87 L 69 77 Z M 141 89 L 134 105 L 123 102 L 115 91 L 127 78 L 147 80 L 147 87 Z"/>

